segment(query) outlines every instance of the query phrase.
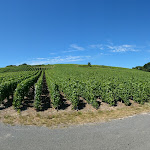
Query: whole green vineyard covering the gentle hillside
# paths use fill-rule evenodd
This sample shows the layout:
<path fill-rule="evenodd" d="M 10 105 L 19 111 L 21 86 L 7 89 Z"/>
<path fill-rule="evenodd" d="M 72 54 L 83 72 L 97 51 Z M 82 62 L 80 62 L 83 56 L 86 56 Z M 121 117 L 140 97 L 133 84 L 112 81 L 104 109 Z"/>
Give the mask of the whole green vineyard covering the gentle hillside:
<path fill-rule="evenodd" d="M 22 110 L 29 93 L 34 109 L 44 110 L 44 89 L 48 91 L 49 104 L 57 111 L 63 105 L 62 96 L 77 111 L 83 99 L 95 109 L 101 108 L 101 102 L 130 106 L 131 100 L 139 104 L 150 100 L 150 73 L 134 69 L 58 64 L 6 67 L 0 71 L 0 104 L 12 101 L 17 111 Z"/>

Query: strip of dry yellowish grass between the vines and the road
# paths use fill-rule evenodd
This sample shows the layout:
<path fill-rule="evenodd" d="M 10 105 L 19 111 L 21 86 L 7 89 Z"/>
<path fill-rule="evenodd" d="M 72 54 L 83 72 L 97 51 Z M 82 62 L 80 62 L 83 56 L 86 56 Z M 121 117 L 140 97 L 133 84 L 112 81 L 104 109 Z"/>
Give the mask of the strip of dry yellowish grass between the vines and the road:
<path fill-rule="evenodd" d="M 11 116 L 11 114 L 5 114 L 4 116 L 1 116 L 0 114 L 0 121 L 11 125 L 21 124 L 57 128 L 78 124 L 82 125 L 85 123 L 107 122 L 112 119 L 121 119 L 128 116 L 148 112 L 150 112 L 150 103 L 145 103 L 144 105 L 138 106 L 126 106 L 123 108 L 104 111 L 72 111 L 54 114 L 43 114 L 42 112 L 36 112 L 30 113 L 28 115 L 22 115 L 20 113 L 15 116 Z"/>

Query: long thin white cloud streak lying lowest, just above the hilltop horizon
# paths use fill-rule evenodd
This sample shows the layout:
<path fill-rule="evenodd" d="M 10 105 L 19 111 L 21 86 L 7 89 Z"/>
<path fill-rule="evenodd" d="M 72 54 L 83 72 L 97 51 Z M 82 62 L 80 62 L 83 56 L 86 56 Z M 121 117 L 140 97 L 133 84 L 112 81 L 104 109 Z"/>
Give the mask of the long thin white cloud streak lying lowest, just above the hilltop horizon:
<path fill-rule="evenodd" d="M 90 58 L 90 56 L 58 56 L 53 58 L 44 58 L 42 60 L 34 59 L 28 62 L 29 65 L 40 64 L 58 64 L 58 63 L 71 63 L 76 61 L 83 61 Z"/>

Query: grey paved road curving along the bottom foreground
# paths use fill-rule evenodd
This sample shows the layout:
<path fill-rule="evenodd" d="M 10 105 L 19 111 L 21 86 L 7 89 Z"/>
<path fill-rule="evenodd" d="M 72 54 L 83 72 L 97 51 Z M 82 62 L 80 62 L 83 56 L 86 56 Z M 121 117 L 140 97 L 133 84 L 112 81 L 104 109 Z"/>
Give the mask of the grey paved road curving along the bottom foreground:
<path fill-rule="evenodd" d="M 150 114 L 64 129 L 1 123 L 0 150 L 150 150 Z"/>

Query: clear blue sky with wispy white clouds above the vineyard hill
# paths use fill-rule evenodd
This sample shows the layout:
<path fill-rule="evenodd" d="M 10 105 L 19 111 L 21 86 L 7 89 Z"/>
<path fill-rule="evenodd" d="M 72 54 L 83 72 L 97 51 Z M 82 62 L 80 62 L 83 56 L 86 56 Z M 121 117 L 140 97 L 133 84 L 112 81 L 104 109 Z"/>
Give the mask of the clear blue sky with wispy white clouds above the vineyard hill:
<path fill-rule="evenodd" d="M 0 67 L 150 61 L 149 0 L 0 0 Z"/>

